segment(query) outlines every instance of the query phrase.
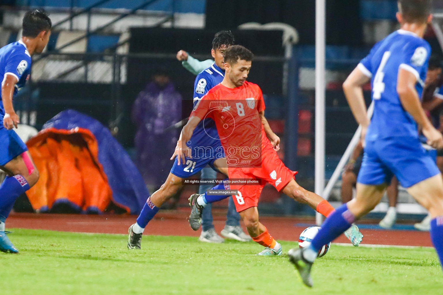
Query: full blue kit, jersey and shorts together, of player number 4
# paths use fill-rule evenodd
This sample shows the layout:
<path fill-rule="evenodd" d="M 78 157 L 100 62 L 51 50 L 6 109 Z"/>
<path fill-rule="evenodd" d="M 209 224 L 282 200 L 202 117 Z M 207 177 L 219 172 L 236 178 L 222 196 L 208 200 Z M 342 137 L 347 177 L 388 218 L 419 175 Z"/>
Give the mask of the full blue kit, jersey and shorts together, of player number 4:
<path fill-rule="evenodd" d="M 395 175 L 404 188 L 439 173 L 419 140 L 417 124 L 404 110 L 397 93 L 400 69 L 417 78 L 421 97 L 431 47 L 422 38 L 398 30 L 373 47 L 358 68 L 371 77 L 374 113 L 366 133 L 366 146 L 357 182 L 389 184 Z"/>

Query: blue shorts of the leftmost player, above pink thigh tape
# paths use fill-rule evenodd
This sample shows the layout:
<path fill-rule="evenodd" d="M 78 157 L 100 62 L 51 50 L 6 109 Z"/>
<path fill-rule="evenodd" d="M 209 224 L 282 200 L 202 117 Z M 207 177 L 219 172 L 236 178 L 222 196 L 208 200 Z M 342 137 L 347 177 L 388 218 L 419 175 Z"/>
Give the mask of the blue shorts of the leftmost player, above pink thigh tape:
<path fill-rule="evenodd" d="M 6 163 L 26 151 L 27 146 L 16 134 L 16 131 L 4 128 L 2 118 L 0 126 L 0 166 L 6 165 Z"/>

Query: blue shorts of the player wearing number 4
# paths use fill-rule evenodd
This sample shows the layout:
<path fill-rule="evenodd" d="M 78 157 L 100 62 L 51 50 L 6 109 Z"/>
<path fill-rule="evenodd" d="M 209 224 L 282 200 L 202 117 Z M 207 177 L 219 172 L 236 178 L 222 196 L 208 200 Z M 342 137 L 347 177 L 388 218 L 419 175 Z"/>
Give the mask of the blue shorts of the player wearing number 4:
<path fill-rule="evenodd" d="M 389 184 L 395 175 L 404 188 L 410 188 L 439 173 L 435 160 L 418 138 L 384 138 L 366 140 L 357 182 L 367 185 Z"/>

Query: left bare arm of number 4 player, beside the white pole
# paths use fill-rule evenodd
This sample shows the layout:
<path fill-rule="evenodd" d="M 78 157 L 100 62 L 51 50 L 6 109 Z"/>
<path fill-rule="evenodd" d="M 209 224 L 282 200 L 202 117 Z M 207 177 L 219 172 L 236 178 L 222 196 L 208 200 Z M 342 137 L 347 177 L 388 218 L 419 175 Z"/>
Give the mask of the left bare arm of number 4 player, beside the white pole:
<path fill-rule="evenodd" d="M 366 130 L 369 126 L 362 86 L 368 83 L 369 79 L 370 78 L 357 67 L 350 73 L 345 83 L 343 83 L 346 100 L 348 101 L 354 118 L 357 120 L 357 123 L 361 125 L 362 144 L 364 144 Z"/>

